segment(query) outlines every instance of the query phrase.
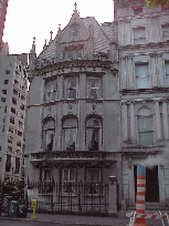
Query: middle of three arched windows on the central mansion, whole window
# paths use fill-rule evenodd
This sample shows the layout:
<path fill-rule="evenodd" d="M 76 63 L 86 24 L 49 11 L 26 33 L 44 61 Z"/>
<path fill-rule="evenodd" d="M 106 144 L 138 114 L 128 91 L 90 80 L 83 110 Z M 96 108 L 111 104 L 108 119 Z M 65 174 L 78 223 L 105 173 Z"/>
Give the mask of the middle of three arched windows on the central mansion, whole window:
<path fill-rule="evenodd" d="M 66 151 L 75 151 L 77 121 L 67 119 L 63 122 L 64 144 Z"/>

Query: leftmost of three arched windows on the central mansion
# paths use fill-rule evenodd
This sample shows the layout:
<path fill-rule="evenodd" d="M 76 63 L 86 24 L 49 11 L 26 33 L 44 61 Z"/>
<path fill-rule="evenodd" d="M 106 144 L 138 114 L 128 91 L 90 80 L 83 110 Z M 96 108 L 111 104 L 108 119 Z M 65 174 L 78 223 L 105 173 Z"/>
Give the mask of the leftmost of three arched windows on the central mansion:
<path fill-rule="evenodd" d="M 46 151 L 53 150 L 54 140 L 54 121 L 49 120 L 43 123 L 44 148 Z"/>

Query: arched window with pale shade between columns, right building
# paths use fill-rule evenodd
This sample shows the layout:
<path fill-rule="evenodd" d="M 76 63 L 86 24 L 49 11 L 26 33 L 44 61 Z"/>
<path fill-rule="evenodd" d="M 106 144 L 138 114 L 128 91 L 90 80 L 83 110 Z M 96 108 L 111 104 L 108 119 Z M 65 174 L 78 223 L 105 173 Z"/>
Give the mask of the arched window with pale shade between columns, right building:
<path fill-rule="evenodd" d="M 142 146 L 150 146 L 154 144 L 154 130 L 152 130 L 152 112 L 142 107 L 137 113 L 138 117 L 138 140 Z"/>

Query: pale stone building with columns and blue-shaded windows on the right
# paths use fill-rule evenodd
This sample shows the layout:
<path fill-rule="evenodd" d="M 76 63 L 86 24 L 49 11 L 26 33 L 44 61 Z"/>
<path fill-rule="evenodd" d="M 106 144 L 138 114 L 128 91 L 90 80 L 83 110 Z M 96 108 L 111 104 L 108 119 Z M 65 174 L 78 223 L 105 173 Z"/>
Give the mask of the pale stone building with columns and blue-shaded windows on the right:
<path fill-rule="evenodd" d="M 122 95 L 123 199 L 135 207 L 137 165 L 151 156 L 159 161 L 152 160 L 155 167 L 146 168 L 146 207 L 169 206 L 169 164 L 158 155 L 169 140 L 169 9 L 149 9 L 144 0 L 115 0 L 115 22 Z"/>

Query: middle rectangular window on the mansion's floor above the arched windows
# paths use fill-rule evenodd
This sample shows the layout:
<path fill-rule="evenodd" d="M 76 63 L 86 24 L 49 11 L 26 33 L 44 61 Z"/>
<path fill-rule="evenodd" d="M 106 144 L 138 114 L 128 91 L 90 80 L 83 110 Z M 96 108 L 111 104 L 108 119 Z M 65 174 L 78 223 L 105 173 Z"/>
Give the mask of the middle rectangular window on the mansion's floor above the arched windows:
<path fill-rule="evenodd" d="M 66 84 L 66 97 L 67 99 L 76 99 L 77 97 L 77 80 L 76 79 L 67 79 Z"/>

